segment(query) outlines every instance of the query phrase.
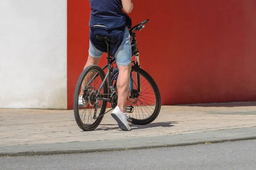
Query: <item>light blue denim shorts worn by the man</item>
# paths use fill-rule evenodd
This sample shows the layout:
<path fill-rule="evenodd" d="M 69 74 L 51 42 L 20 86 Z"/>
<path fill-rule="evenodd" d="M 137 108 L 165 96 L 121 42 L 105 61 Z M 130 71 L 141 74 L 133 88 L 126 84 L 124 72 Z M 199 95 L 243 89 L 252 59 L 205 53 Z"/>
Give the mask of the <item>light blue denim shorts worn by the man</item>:
<path fill-rule="evenodd" d="M 102 57 L 103 52 L 97 50 L 95 46 L 90 42 L 89 55 L 93 58 Z M 131 40 L 127 27 L 125 27 L 125 35 L 123 41 L 115 53 L 116 64 L 118 66 L 125 66 L 131 64 Z"/>

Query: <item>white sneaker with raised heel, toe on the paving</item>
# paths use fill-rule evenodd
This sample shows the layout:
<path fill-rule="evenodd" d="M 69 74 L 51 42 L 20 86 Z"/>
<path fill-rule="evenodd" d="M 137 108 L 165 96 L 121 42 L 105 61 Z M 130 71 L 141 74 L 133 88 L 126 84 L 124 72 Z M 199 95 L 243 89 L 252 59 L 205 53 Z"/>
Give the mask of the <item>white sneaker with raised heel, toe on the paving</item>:
<path fill-rule="evenodd" d="M 116 108 L 112 111 L 111 116 L 116 120 L 120 129 L 126 131 L 131 130 L 127 122 L 126 113 L 122 113 L 118 106 L 116 106 Z"/>

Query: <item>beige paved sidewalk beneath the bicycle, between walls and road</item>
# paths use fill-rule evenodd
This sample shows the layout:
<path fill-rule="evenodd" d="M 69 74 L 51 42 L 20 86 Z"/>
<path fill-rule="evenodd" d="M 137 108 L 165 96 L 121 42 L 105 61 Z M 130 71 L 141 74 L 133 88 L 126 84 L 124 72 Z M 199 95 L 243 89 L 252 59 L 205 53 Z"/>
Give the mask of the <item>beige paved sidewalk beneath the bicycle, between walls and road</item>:
<path fill-rule="evenodd" d="M 250 129 L 241 130 L 240 128 Z M 218 130 L 232 130 L 232 133 L 227 131 L 225 138 L 225 135 L 223 136 L 223 133 Z M 40 151 L 36 148 L 42 149 L 49 144 L 59 144 L 68 150 L 68 144 L 72 145 L 70 142 L 76 142 L 76 144 L 87 142 L 84 148 L 90 150 L 95 147 L 93 144 L 96 143 L 101 143 L 99 146 L 103 146 L 104 143 L 113 144 L 117 140 L 124 140 L 130 141 L 130 144 L 126 142 L 123 147 L 133 148 L 133 146 L 138 146 L 136 141 L 154 141 L 154 139 L 156 141 L 148 146 L 156 144 L 157 139 L 169 142 L 175 139 L 177 145 L 179 138 L 180 142 L 182 140 L 184 143 L 185 140 L 186 143 L 187 139 L 182 135 L 190 135 L 188 139 L 194 135 L 192 138 L 195 139 L 194 143 L 197 143 L 209 141 L 210 137 L 208 136 L 209 139 L 206 137 L 208 133 L 211 133 L 212 139 L 216 136 L 219 141 L 221 139 L 253 139 L 256 137 L 256 102 L 162 106 L 159 116 L 153 123 L 131 125 L 129 132 L 120 130 L 110 114 L 104 116 L 96 130 L 84 132 L 76 125 L 72 110 L 0 109 L 0 153 L 2 156 L 4 153 L 17 153 L 21 150 L 25 153 L 24 150 L 29 146 L 32 146 L 30 151 L 31 149 Z M 165 136 L 167 136 L 166 139 L 163 139 Z M 197 138 L 198 141 L 196 141 Z M 168 142 L 164 144 L 168 145 Z M 83 150 L 83 145 L 79 146 L 79 150 Z M 105 150 L 108 150 L 108 145 L 105 147 Z M 115 148 L 112 145 L 109 147 Z M 19 151 L 18 148 L 21 150 Z M 61 151 L 61 147 L 58 150 L 57 145 L 54 145 L 54 148 L 58 152 Z"/>

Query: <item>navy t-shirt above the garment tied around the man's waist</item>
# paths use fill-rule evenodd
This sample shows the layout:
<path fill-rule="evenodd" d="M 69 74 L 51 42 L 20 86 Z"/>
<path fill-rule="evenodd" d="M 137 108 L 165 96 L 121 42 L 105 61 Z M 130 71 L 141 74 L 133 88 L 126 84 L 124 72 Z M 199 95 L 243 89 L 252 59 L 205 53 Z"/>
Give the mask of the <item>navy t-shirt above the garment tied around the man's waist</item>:
<path fill-rule="evenodd" d="M 89 0 L 91 14 L 96 17 L 121 17 L 122 0 Z"/>

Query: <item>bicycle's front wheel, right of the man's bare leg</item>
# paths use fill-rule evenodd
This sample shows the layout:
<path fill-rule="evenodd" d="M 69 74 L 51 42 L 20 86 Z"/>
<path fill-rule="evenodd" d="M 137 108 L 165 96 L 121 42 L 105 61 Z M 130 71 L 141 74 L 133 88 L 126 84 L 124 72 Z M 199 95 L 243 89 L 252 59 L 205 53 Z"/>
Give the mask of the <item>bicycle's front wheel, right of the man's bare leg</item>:
<path fill-rule="evenodd" d="M 126 99 L 126 108 L 132 112 L 126 112 L 128 122 L 136 125 L 146 125 L 153 122 L 161 109 L 161 96 L 154 79 L 142 68 L 133 65 L 131 68 L 133 96 L 130 98 L 130 90 Z M 137 76 L 140 75 L 141 90 L 139 91 Z M 115 85 L 116 87 L 116 82 Z"/>

